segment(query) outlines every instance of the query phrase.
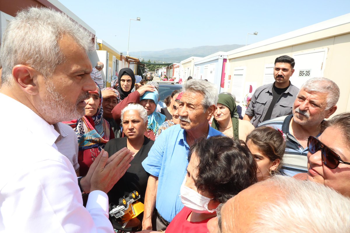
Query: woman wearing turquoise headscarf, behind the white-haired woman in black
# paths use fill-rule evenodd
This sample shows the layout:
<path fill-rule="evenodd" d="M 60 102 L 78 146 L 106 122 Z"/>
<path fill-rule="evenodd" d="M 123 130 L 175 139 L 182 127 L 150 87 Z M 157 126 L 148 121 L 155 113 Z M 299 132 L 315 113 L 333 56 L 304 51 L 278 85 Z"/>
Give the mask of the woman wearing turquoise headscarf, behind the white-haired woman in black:
<path fill-rule="evenodd" d="M 165 116 L 156 111 L 158 99 L 159 96 L 157 90 L 154 92 L 146 92 L 140 97 L 140 104 L 147 111 L 148 124 L 145 136 L 151 140 L 155 140 L 155 135 L 158 131 L 159 126 L 165 122 Z"/>

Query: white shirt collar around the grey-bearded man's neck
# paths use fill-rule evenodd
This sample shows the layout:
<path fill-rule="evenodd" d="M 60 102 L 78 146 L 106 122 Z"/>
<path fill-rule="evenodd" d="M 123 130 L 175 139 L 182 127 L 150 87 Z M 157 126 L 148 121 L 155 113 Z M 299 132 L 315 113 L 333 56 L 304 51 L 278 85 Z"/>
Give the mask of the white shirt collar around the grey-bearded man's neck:
<path fill-rule="evenodd" d="M 54 129 L 53 125 L 47 123 L 43 118 L 37 115 L 33 110 L 19 101 L 0 93 L 0 102 L 4 106 L 2 109 L 11 109 L 11 120 L 13 122 L 23 122 L 26 124 L 23 129 L 27 129 L 41 140 L 43 143 L 54 146 L 59 133 Z"/>

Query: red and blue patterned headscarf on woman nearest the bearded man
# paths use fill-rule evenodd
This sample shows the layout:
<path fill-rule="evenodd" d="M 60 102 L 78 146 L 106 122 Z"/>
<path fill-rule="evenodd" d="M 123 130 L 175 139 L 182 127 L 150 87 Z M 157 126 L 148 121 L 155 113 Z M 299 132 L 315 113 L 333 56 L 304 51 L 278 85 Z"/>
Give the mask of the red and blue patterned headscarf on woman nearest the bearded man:
<path fill-rule="evenodd" d="M 91 117 L 84 115 L 80 119 L 69 122 L 69 125 L 77 134 L 79 151 L 94 147 L 99 147 L 102 150 L 110 138 L 110 125 L 103 118 L 101 89 L 97 84 L 96 86 L 97 90 L 95 92 L 100 97 L 96 114 Z"/>

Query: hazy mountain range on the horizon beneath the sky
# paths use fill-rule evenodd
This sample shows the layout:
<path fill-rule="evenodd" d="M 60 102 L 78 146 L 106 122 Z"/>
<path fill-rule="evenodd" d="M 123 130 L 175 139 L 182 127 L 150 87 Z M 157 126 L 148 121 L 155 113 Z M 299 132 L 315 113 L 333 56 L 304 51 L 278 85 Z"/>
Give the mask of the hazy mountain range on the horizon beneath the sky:
<path fill-rule="evenodd" d="M 189 57 L 205 57 L 216 52 L 228 52 L 245 45 L 242 44 L 226 44 L 218 46 L 199 46 L 190 49 L 165 49 L 161 51 L 134 51 L 130 52 L 131 57 L 142 58 L 144 61 L 151 60 L 165 63 L 179 63 Z M 126 52 L 123 52 L 126 54 Z"/>

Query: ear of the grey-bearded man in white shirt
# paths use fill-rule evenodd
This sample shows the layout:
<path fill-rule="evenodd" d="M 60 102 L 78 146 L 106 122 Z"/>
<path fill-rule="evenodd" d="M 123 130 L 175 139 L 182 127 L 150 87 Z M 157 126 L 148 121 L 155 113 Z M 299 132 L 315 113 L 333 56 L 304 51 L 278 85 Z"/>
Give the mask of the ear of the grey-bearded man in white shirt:
<path fill-rule="evenodd" d="M 15 65 L 12 76 L 23 91 L 30 95 L 38 94 L 36 70 L 26 65 Z"/>

